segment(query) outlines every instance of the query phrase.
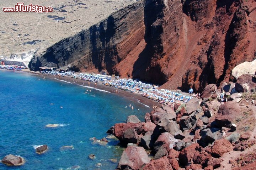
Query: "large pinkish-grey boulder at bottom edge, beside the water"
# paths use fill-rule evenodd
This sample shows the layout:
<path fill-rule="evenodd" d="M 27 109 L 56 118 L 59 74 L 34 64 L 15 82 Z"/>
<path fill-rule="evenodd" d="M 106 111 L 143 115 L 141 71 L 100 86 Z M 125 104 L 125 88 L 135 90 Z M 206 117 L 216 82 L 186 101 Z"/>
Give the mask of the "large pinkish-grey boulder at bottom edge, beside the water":
<path fill-rule="evenodd" d="M 118 169 L 134 169 L 139 170 L 145 164 L 150 163 L 150 158 L 143 147 L 128 146 L 122 153 Z"/>

